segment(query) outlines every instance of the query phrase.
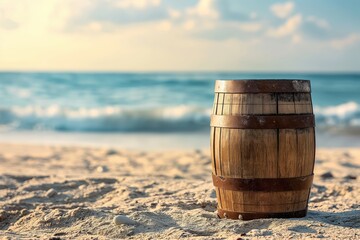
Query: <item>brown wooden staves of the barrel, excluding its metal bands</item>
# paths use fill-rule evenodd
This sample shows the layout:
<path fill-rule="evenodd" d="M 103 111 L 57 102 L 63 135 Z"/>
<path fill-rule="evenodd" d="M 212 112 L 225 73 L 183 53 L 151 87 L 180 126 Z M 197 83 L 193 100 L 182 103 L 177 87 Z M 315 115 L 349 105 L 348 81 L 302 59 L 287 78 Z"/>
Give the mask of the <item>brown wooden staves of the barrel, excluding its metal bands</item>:
<path fill-rule="evenodd" d="M 214 115 L 312 114 L 310 93 L 215 93 Z M 211 127 L 213 174 L 224 178 L 293 178 L 313 174 L 314 127 Z M 231 191 L 216 187 L 219 208 L 277 213 L 307 208 L 309 190 Z"/>

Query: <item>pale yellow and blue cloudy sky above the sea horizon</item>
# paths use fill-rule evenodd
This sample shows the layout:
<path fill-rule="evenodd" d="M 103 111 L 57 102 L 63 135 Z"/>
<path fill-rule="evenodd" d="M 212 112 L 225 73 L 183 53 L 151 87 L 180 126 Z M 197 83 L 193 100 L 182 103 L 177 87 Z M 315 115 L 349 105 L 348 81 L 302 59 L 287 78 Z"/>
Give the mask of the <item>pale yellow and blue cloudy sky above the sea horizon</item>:
<path fill-rule="evenodd" d="M 0 71 L 360 71 L 359 0 L 0 0 Z"/>

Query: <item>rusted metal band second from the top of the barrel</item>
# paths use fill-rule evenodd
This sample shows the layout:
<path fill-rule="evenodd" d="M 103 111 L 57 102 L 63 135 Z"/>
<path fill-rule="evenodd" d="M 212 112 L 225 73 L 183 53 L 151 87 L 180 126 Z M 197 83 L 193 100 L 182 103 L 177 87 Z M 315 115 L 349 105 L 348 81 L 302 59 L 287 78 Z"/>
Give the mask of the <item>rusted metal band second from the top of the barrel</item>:
<path fill-rule="evenodd" d="M 299 115 L 212 115 L 210 126 L 239 129 L 284 129 L 315 126 L 313 114 Z"/>

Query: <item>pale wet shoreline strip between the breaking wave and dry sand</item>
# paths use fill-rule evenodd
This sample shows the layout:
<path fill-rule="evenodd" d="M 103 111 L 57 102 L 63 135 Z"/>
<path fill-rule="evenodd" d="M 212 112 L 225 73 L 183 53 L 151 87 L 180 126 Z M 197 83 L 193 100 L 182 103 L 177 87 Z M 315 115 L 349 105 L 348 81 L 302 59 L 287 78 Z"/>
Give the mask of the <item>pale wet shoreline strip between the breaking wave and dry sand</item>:
<path fill-rule="evenodd" d="M 207 149 L 210 132 L 53 132 L 3 131 L 0 144 L 26 144 L 43 146 L 107 147 L 128 150 L 191 150 Z M 316 132 L 318 148 L 360 148 L 360 135 Z"/>

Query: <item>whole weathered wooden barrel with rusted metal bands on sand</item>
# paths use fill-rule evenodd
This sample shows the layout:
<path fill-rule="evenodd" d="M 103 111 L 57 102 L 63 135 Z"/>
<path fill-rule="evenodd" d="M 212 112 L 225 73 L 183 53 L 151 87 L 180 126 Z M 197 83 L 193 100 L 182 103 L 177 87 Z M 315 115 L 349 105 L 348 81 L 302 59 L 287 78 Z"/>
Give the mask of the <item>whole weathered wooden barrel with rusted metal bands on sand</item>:
<path fill-rule="evenodd" d="M 315 160 L 308 80 L 217 80 L 212 177 L 220 218 L 304 217 Z"/>

